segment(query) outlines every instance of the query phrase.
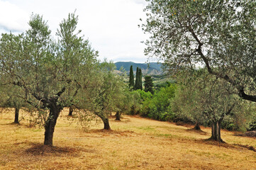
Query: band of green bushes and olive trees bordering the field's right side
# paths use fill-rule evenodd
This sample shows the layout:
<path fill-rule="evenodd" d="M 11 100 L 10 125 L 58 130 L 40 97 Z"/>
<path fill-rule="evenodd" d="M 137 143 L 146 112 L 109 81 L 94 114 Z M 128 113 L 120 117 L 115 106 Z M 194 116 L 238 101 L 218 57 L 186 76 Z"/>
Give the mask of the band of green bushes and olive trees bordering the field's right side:
<path fill-rule="evenodd" d="M 147 90 L 147 79 L 144 91 L 133 92 L 139 94 L 140 106 L 132 113 L 155 120 L 192 123 L 196 130 L 200 130 L 200 125 L 212 126 L 211 138 L 218 141 L 222 141 L 221 128 L 255 130 L 255 103 L 239 98 L 226 81 L 216 79 L 206 69 L 179 72 L 175 83 L 167 82 L 152 91 Z M 151 81 L 150 84 L 152 87 Z"/>

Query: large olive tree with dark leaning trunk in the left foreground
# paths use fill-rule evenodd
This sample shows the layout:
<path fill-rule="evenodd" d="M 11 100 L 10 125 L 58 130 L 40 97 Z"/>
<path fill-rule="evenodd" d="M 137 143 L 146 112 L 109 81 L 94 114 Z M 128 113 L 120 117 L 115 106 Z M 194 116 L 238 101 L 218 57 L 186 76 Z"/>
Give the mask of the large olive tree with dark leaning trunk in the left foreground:
<path fill-rule="evenodd" d="M 1 77 L 25 91 L 24 101 L 44 111 L 44 145 L 52 145 L 53 132 L 60 111 L 71 106 L 81 87 L 89 81 L 88 68 L 96 52 L 88 40 L 75 33 L 77 17 L 69 14 L 57 30 L 58 40 L 50 36 L 43 17 L 32 15 L 30 28 L 24 34 L 2 34 L 0 40 Z M 90 66 L 90 67 L 88 67 Z"/>

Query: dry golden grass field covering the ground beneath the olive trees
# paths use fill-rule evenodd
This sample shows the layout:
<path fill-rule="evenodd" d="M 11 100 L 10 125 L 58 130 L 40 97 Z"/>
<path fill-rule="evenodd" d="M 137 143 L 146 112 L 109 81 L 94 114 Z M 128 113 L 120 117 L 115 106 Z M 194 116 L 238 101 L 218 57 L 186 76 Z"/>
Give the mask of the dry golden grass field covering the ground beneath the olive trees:
<path fill-rule="evenodd" d="M 23 113 L 24 115 L 24 113 Z M 0 114 L 0 169 L 256 169 L 256 139 L 222 131 L 226 143 L 206 141 L 189 126 L 134 116 L 110 120 L 87 131 L 62 111 L 53 137 L 43 146 L 44 130 L 11 124 L 14 113 Z"/>

